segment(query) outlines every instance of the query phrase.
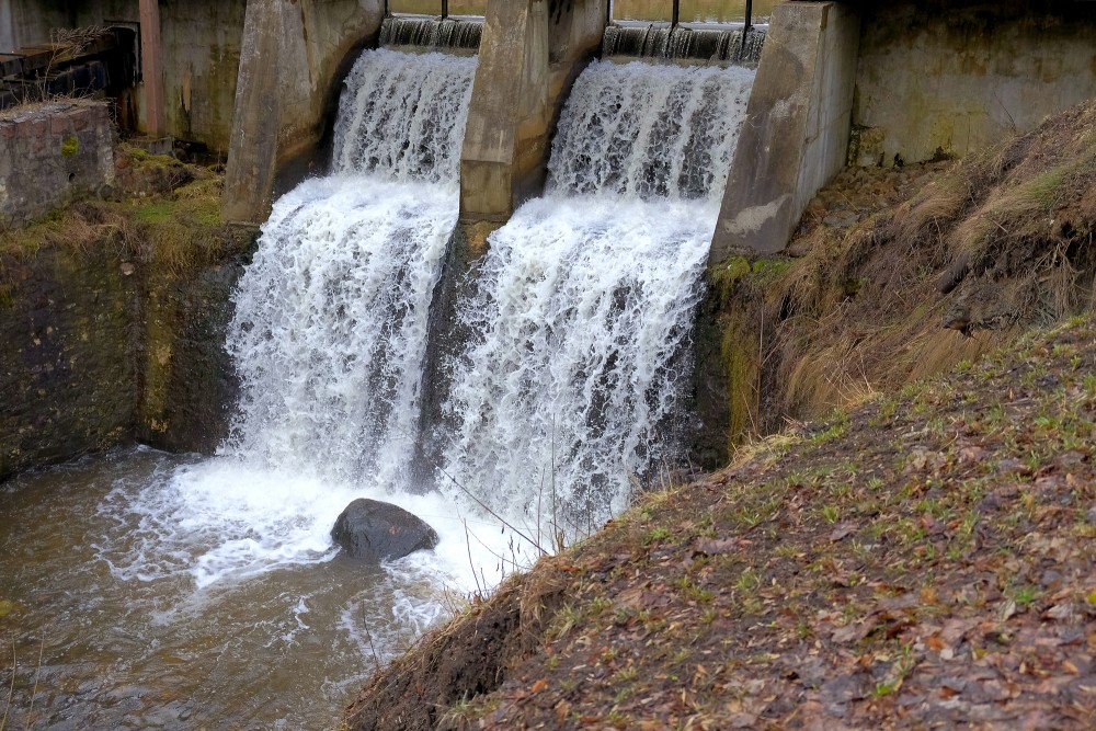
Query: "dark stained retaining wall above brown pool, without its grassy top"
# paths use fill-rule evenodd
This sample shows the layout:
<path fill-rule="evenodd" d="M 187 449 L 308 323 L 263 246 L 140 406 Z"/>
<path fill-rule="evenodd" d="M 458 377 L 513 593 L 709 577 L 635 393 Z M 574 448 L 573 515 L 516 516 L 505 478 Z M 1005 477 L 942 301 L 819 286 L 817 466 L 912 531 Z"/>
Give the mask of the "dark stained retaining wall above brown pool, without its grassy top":
<path fill-rule="evenodd" d="M 212 452 L 228 433 L 224 343 L 250 235 L 174 272 L 117 236 L 0 251 L 0 481 L 134 442 Z"/>

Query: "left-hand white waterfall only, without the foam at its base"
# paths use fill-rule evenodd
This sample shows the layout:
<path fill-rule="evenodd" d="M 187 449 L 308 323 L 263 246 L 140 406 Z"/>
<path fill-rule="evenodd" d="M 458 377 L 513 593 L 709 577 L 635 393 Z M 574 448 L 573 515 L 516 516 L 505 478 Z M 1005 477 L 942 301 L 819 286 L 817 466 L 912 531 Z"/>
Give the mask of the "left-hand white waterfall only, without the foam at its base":
<path fill-rule="evenodd" d="M 336 174 L 283 197 L 236 296 L 225 452 L 403 487 L 475 60 L 387 50 L 346 80 Z"/>

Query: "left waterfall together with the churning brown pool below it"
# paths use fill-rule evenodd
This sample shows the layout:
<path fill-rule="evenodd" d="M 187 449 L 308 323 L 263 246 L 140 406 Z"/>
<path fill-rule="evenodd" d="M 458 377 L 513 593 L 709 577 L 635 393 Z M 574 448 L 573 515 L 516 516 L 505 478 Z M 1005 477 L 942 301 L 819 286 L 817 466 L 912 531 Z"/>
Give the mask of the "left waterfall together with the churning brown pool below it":
<path fill-rule="evenodd" d="M 4 486 L 18 728 L 320 728 L 447 590 L 476 589 L 472 562 L 493 558 L 465 546 L 476 516 L 406 490 L 475 68 L 379 50 L 353 69 L 332 175 L 275 204 L 236 294 L 242 395 L 220 455 L 141 450 Z M 437 551 L 342 560 L 329 532 L 362 496 L 430 522 Z"/>

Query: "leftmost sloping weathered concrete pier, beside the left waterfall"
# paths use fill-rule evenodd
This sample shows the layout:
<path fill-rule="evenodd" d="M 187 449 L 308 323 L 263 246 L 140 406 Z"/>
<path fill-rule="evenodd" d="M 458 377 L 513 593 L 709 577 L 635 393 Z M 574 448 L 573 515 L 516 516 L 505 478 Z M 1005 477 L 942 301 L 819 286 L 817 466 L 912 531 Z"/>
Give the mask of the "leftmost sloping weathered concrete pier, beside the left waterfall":
<path fill-rule="evenodd" d="M 225 181 L 225 218 L 260 222 L 275 178 L 315 152 L 353 57 L 384 20 L 381 0 L 250 0 Z M 309 171 L 309 163 L 296 165 Z"/>

